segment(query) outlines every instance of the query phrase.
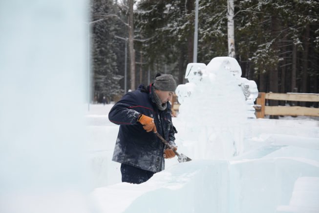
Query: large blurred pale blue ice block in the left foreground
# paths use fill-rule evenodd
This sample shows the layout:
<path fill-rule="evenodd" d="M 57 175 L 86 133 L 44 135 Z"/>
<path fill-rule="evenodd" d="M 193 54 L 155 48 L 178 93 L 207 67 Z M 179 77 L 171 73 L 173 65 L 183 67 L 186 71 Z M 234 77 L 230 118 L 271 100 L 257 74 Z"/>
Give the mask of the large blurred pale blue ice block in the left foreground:
<path fill-rule="evenodd" d="M 85 0 L 0 1 L 0 213 L 88 213 Z"/>

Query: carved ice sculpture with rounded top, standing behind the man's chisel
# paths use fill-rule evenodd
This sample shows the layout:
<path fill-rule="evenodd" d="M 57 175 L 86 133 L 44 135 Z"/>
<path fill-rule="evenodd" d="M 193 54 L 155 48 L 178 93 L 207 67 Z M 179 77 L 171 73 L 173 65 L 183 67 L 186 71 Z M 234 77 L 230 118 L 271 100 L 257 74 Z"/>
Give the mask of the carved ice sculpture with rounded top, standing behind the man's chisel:
<path fill-rule="evenodd" d="M 213 58 L 207 66 L 187 66 L 189 83 L 178 85 L 176 94 L 179 118 L 191 136 L 181 140 L 195 141 L 194 159 L 229 158 L 243 152 L 245 126 L 247 118 L 255 118 L 252 105 L 258 91 L 254 81 L 240 76 L 241 68 L 232 57 Z"/>

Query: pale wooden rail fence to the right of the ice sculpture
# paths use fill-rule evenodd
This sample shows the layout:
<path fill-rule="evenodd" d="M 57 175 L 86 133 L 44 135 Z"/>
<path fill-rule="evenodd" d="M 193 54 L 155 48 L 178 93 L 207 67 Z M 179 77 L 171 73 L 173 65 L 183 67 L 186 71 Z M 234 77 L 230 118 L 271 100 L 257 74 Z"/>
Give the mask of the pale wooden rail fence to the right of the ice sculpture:
<path fill-rule="evenodd" d="M 300 94 L 300 93 L 258 93 L 256 99 L 256 117 L 264 118 L 265 115 L 271 116 L 317 116 L 319 108 L 301 106 L 266 106 L 266 99 L 286 100 L 286 101 L 309 101 L 319 102 L 319 94 Z"/>

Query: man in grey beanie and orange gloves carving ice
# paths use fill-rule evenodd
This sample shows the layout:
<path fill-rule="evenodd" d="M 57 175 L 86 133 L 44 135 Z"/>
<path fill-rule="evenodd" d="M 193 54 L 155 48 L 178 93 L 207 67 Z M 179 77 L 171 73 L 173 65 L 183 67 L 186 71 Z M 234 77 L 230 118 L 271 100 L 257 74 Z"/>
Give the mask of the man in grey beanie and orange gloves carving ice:
<path fill-rule="evenodd" d="M 112 160 L 121 163 L 122 182 L 146 182 L 164 169 L 164 158 L 175 156 L 155 134 L 158 132 L 177 150 L 169 102 L 175 90 L 173 76 L 158 73 L 153 84 L 141 84 L 110 110 L 108 119 L 120 125 Z"/>

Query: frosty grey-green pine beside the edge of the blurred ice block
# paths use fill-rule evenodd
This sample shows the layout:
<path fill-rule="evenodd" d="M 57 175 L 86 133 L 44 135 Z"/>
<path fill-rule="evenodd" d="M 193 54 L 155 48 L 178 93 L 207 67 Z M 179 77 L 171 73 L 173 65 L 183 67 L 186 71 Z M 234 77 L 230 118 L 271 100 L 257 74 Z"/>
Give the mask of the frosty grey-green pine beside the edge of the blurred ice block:
<path fill-rule="evenodd" d="M 111 16 L 106 16 L 116 13 L 116 4 L 112 0 L 92 0 L 91 8 L 94 95 L 99 101 L 103 96 L 111 100 L 113 95 L 123 92 L 119 85 L 123 76 L 118 74 L 118 59 L 115 53 L 118 43 L 114 38 L 119 27 Z M 95 20 L 100 21 L 94 22 Z"/>

